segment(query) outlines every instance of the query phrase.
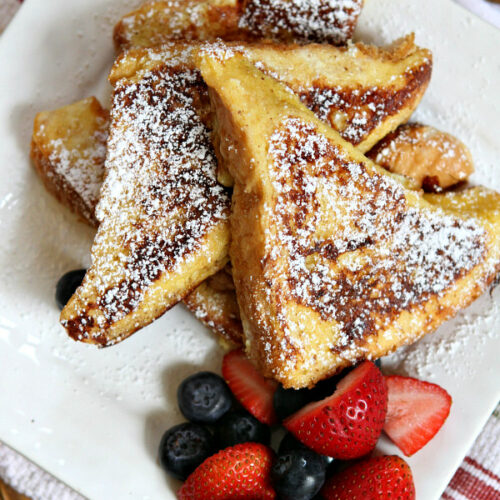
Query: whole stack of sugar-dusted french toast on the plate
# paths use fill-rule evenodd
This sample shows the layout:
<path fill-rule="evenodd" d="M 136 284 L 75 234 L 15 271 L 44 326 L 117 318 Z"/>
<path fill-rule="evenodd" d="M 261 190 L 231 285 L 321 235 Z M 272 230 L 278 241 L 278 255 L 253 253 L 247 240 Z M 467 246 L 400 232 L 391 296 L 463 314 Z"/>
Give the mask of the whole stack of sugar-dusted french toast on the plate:
<path fill-rule="evenodd" d="M 46 188 L 97 228 L 61 314 L 109 346 L 180 301 L 284 387 L 414 342 L 500 270 L 500 195 L 408 124 L 432 55 L 351 40 L 362 0 L 148 2 L 114 30 L 108 112 L 35 118 Z"/>

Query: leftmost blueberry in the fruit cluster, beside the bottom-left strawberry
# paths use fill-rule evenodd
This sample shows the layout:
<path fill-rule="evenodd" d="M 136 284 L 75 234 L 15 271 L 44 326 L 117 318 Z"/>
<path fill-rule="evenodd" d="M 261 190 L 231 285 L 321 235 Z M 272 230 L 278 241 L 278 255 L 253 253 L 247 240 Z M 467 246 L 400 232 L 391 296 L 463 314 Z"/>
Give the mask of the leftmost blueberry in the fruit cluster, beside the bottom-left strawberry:
<path fill-rule="evenodd" d="M 186 422 L 170 428 L 160 442 L 160 465 L 173 477 L 186 479 L 214 451 L 212 434 Z"/>

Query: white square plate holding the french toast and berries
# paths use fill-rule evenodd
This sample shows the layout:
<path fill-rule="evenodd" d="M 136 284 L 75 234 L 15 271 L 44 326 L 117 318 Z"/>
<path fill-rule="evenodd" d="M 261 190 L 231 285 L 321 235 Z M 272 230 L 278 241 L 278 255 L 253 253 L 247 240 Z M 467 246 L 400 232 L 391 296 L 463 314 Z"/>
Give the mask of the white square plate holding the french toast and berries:
<path fill-rule="evenodd" d="M 182 306 L 104 350 L 69 340 L 53 293 L 88 264 L 92 230 L 45 192 L 28 151 L 37 111 L 91 94 L 108 102 L 111 29 L 138 1 L 31 0 L 0 40 L 0 439 L 92 499 L 174 498 L 155 461 L 162 432 L 182 420 L 178 383 L 218 370 L 212 336 Z M 473 181 L 500 189 L 500 32 L 451 0 L 367 0 L 358 38 L 415 31 L 434 74 L 417 112 L 471 148 Z M 438 436 L 409 462 L 420 499 L 438 498 L 499 399 L 500 294 L 386 366 L 453 396 Z M 398 453 L 387 441 L 380 448 Z"/>

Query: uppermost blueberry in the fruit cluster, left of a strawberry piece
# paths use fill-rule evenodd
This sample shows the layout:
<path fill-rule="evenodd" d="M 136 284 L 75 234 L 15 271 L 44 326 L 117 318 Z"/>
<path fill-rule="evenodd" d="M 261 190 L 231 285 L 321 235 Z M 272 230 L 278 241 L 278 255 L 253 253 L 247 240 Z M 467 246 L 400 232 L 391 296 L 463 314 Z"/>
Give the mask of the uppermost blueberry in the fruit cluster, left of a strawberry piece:
<path fill-rule="evenodd" d="M 228 412 L 233 400 L 222 377 L 199 372 L 188 377 L 177 389 L 182 414 L 191 422 L 211 424 Z"/>

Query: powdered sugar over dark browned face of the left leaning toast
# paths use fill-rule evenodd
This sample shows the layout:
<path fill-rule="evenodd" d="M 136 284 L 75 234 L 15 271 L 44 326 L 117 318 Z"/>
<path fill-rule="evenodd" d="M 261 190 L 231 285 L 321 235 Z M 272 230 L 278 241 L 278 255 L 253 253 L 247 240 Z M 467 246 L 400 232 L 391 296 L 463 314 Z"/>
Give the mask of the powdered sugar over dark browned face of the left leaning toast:
<path fill-rule="evenodd" d="M 97 289 L 100 342 L 111 343 L 101 338 L 106 328 L 134 311 L 162 273 L 194 258 L 217 224 L 227 223 L 229 198 L 216 182 L 206 87 L 190 65 L 179 66 L 179 57 L 166 56 L 137 81 L 115 86 L 93 280 L 79 290 L 85 299 Z M 95 326 L 84 310 L 73 330 L 85 337 Z"/>

